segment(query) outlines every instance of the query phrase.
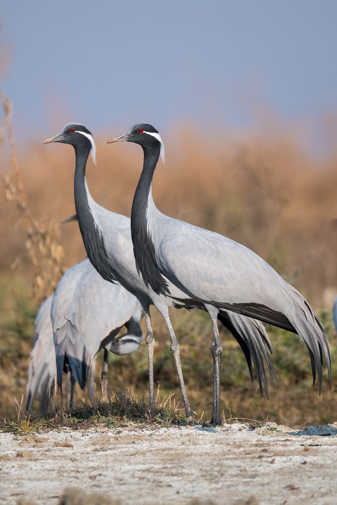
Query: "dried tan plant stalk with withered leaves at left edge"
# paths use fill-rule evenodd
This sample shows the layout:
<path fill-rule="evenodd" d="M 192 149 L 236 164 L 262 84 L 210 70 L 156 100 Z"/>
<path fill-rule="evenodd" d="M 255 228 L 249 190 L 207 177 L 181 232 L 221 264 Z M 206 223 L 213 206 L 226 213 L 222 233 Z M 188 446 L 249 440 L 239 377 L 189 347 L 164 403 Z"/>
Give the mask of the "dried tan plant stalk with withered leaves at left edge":
<path fill-rule="evenodd" d="M 11 123 L 12 103 L 9 98 L 4 99 L 2 93 L 0 100 L 4 109 L 3 129 L 7 130 L 11 146 L 11 160 L 5 177 L 6 200 L 14 201 L 24 216 L 27 232 L 25 246 L 34 267 L 31 298 L 40 304 L 55 291 L 65 272 L 64 250 L 59 243 L 60 227 L 58 223 L 44 218 L 35 219 L 28 208 Z M 12 268 L 19 263 L 20 257 L 12 264 Z"/>

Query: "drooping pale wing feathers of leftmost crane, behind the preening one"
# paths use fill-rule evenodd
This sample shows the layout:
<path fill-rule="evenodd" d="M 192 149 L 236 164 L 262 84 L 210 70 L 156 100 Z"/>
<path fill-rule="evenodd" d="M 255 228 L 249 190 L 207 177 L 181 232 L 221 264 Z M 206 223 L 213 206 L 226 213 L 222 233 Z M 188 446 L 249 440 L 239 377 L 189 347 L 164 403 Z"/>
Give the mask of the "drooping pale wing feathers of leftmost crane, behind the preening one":
<path fill-rule="evenodd" d="M 39 411 L 45 412 L 54 391 L 56 356 L 51 321 L 53 295 L 41 305 L 34 326 L 33 350 L 30 354 L 25 408 L 31 411 L 37 393 L 40 395 Z"/>

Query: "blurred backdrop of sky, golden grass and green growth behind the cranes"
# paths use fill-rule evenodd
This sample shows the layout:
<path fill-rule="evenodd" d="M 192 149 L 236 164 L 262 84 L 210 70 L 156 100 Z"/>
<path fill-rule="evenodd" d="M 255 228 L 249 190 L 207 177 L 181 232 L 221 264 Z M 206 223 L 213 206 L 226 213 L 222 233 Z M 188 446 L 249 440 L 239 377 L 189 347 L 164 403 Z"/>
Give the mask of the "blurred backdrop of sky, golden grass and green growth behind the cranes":
<path fill-rule="evenodd" d="M 97 143 L 97 167 L 91 160 L 87 166 L 92 196 L 127 216 L 142 151 L 105 142 L 134 123 L 153 124 L 166 153 L 154 177 L 159 209 L 265 259 L 319 313 L 334 363 L 336 18 L 337 5 L 327 0 L 19 6 L 3 0 L 0 409 L 11 410 L 14 397 L 20 403 L 41 301 L 86 257 L 77 224 L 59 224 L 74 212 L 73 149 L 41 145 L 69 121 L 84 124 Z M 165 325 L 155 311 L 153 317 L 156 381 L 178 400 Z M 211 324 L 186 311 L 172 311 L 172 322 L 191 406 L 207 418 Z M 226 417 L 230 409 L 253 419 L 269 413 L 269 420 L 294 426 L 335 421 L 337 366 L 331 391 L 325 377 L 319 398 L 304 343 L 285 331 L 268 327 L 268 333 L 279 378 L 269 401 L 222 333 Z M 111 356 L 110 368 L 109 387 L 146 394 L 145 345 L 126 358 Z"/>

